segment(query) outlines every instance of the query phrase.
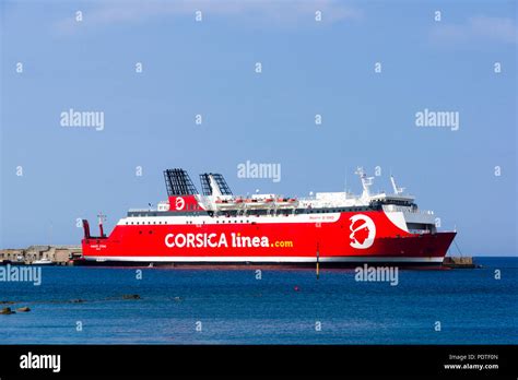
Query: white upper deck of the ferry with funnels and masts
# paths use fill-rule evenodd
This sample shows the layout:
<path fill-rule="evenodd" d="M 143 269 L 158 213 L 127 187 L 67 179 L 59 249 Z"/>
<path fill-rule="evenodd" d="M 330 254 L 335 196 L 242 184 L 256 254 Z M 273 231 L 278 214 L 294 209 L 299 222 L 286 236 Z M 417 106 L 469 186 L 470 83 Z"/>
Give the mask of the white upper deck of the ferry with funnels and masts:
<path fill-rule="evenodd" d="M 283 197 L 278 194 L 234 195 L 220 174 L 200 175 L 203 194 L 200 194 L 190 180 L 187 171 L 169 169 L 164 177 L 169 195 L 167 201 L 160 202 L 156 209 L 131 209 L 128 216 L 290 216 L 299 214 L 338 213 L 338 212 L 405 212 L 419 211 L 414 197 L 404 194 L 397 187 L 393 177 L 393 193 L 372 193 L 373 177 L 367 177 L 362 168 L 356 170 L 362 181 L 363 192 L 355 195 L 351 192 L 317 192 L 307 198 Z M 424 212 L 433 214 L 432 212 Z"/>

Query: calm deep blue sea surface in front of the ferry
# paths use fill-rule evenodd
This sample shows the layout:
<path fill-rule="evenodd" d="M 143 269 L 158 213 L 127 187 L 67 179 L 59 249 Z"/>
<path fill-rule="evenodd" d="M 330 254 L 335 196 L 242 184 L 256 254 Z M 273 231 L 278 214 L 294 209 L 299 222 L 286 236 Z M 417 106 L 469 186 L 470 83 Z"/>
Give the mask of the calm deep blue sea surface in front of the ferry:
<path fill-rule="evenodd" d="M 2 344 L 517 344 L 518 258 L 476 270 L 43 268 L 40 286 L 0 282 Z M 501 280 L 495 280 L 495 270 Z M 123 299 L 123 295 L 141 299 Z M 73 301 L 81 299 L 82 302 Z M 318 323 L 320 322 L 320 323 Z M 440 331 L 436 331 L 438 323 Z M 78 331 L 82 326 L 82 331 Z M 321 326 L 320 331 L 317 331 Z M 200 329 L 201 328 L 201 329 Z M 197 331 L 201 330 L 201 331 Z"/>

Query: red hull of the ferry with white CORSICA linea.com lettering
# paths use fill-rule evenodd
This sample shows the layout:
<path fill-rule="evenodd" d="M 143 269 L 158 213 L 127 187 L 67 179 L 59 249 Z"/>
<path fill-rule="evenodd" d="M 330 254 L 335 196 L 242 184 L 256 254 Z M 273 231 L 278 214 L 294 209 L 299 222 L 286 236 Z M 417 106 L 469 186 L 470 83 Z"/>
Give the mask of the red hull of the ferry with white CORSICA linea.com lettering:
<path fill-rule="evenodd" d="M 353 231 L 358 219 L 364 228 Z M 121 219 L 107 238 L 83 239 L 84 258 L 172 263 L 311 263 L 318 256 L 322 264 L 440 264 L 456 235 L 410 234 L 382 211 L 129 221 Z"/>

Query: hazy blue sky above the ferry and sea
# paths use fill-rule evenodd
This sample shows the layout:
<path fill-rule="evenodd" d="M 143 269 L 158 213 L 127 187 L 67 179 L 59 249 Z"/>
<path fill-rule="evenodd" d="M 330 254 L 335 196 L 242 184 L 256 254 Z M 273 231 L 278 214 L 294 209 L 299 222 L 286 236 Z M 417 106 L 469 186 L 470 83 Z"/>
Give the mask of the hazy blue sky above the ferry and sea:
<path fill-rule="evenodd" d="M 375 189 L 390 190 L 392 171 L 457 227 L 462 253 L 517 253 L 514 1 L 0 7 L 0 248 L 79 244 L 76 218 L 98 211 L 111 229 L 127 209 L 166 198 L 168 167 L 198 187 L 215 171 L 235 193 L 307 195 L 345 178 L 360 192 L 361 165 L 381 167 Z M 103 111 L 104 130 L 61 127 L 70 108 Z M 459 130 L 416 127 L 425 108 L 458 111 Z M 281 181 L 237 178 L 247 161 L 281 164 Z"/>

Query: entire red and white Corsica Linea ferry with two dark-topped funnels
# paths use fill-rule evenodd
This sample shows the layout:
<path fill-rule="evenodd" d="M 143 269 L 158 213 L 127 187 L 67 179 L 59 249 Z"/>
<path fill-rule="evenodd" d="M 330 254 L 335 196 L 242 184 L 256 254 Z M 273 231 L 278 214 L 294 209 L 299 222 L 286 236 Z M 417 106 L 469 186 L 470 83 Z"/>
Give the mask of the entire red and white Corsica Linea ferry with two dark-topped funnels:
<path fill-rule="evenodd" d="M 363 192 L 309 198 L 234 195 L 221 174 L 164 171 L 168 198 L 129 210 L 109 236 L 83 219 L 83 258 L 97 263 L 440 265 L 456 231 L 438 231 L 432 211 L 417 207 L 390 176 L 393 193 L 372 193 L 373 177 L 357 168 Z"/>

